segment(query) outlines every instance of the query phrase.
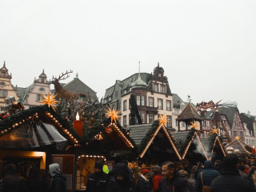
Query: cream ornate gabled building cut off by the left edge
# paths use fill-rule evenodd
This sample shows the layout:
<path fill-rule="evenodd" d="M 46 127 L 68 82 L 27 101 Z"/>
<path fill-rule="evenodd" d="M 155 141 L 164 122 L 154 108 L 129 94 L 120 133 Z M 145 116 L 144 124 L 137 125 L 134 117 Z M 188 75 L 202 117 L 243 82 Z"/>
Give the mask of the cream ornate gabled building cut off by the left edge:
<path fill-rule="evenodd" d="M 6 68 L 6 62 L 4 62 L 0 69 L 0 113 L 5 110 L 5 98 L 14 96 L 18 100 L 17 89 L 11 84 L 11 78 L 11 74 L 9 74 Z"/>

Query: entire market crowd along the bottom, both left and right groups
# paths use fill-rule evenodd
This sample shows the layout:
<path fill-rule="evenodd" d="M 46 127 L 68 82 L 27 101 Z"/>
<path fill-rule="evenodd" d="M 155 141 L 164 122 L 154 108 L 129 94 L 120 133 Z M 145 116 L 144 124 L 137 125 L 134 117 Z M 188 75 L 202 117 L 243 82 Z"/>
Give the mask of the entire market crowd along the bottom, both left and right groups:
<path fill-rule="evenodd" d="M 198 163 L 186 162 L 178 166 L 164 162 L 161 166 L 140 166 L 132 170 L 128 162 L 117 163 L 110 172 L 103 162 L 95 162 L 86 192 L 252 192 L 256 191 L 256 164 L 245 165 L 235 154 L 228 154 L 223 161 Z M 31 167 L 27 178 L 16 173 L 13 164 L 3 170 L 0 192 L 64 192 L 66 177 L 58 163 L 50 164 L 50 174 Z"/>

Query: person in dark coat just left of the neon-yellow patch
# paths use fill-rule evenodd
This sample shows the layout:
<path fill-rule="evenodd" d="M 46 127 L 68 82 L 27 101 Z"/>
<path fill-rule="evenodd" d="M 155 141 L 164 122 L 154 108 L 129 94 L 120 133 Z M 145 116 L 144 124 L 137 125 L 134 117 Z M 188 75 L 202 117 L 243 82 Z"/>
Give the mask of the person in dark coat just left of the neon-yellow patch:
<path fill-rule="evenodd" d="M 103 162 L 95 162 L 93 174 L 90 174 L 86 192 L 104 192 L 106 190 L 107 174 L 103 172 Z"/>

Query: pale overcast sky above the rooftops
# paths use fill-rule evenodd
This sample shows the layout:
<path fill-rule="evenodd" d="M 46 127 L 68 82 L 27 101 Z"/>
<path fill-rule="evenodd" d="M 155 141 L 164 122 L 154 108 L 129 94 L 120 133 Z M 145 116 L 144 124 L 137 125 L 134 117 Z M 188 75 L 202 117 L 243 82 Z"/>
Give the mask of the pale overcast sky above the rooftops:
<path fill-rule="evenodd" d="M 186 101 L 236 101 L 256 115 L 254 0 L 1 0 L 0 65 L 29 86 L 74 70 L 102 98 L 160 63 Z"/>

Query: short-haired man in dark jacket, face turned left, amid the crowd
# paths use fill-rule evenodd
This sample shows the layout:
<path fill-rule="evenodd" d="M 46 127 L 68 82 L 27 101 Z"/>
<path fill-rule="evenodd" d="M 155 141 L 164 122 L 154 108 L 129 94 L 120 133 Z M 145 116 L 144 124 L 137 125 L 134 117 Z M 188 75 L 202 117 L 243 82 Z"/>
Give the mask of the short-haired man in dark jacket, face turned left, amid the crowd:
<path fill-rule="evenodd" d="M 182 178 L 175 168 L 174 162 L 162 163 L 162 180 L 160 182 L 161 192 L 186 192 L 187 181 Z"/>

